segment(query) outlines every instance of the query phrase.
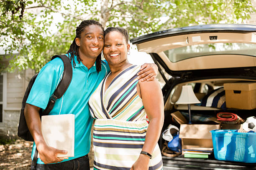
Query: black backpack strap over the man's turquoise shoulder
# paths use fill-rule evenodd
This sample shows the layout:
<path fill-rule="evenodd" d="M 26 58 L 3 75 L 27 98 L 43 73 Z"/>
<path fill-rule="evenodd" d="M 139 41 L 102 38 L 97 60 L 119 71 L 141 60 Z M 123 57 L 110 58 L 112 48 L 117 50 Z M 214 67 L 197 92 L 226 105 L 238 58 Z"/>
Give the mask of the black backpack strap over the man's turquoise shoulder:
<path fill-rule="evenodd" d="M 49 112 L 54 107 L 54 104 L 57 99 L 61 98 L 62 95 L 66 92 L 67 88 L 69 87 L 69 84 L 72 80 L 73 70 L 72 70 L 72 64 L 67 55 L 54 55 L 51 60 L 53 60 L 56 57 L 60 57 L 64 64 L 64 71 L 62 78 L 59 82 L 59 85 L 56 87 L 56 90 L 54 91 L 53 96 L 51 97 L 51 100 L 48 102 L 48 105 L 46 106 L 46 109 L 44 110 L 42 115 L 48 115 Z"/>

